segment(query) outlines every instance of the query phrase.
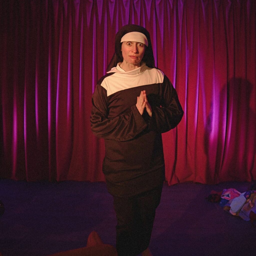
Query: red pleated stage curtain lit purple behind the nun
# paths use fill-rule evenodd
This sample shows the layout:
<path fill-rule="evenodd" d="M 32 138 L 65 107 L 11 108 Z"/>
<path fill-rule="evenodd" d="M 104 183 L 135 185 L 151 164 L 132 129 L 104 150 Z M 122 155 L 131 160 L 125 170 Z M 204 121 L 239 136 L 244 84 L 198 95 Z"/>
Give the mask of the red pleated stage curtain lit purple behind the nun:
<path fill-rule="evenodd" d="M 256 2 L 0 1 L 0 178 L 103 181 L 91 97 L 126 24 L 151 34 L 184 109 L 168 184 L 256 180 Z"/>

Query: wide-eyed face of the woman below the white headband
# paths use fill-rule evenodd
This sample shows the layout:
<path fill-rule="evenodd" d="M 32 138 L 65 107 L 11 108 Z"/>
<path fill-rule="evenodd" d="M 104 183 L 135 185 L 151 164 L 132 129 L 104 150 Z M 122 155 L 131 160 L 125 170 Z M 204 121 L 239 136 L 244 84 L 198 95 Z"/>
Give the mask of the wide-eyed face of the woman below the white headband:
<path fill-rule="evenodd" d="M 140 64 L 144 56 L 145 49 L 146 46 L 142 43 L 123 42 L 121 51 L 124 61 L 132 65 Z"/>

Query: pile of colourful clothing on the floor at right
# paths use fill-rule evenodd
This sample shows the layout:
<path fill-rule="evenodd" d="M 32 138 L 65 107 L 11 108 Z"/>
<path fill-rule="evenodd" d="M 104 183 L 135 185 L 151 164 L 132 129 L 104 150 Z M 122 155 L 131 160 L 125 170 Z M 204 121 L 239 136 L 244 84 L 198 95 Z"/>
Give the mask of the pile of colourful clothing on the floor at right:
<path fill-rule="evenodd" d="M 225 211 L 229 211 L 234 216 L 251 221 L 252 224 L 256 222 L 255 184 L 243 193 L 234 188 L 223 189 L 221 192 L 211 191 L 206 199 L 210 202 L 219 202 Z"/>

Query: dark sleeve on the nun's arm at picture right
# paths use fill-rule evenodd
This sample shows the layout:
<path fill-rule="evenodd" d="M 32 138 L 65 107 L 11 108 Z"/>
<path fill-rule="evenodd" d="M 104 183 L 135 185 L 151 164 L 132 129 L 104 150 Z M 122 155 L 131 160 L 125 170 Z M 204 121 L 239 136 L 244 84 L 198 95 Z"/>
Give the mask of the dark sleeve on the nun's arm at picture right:
<path fill-rule="evenodd" d="M 149 129 L 164 133 L 175 128 L 184 113 L 177 92 L 166 76 L 164 76 L 160 105 L 160 107 L 152 107 Z"/>

